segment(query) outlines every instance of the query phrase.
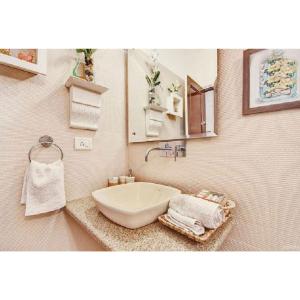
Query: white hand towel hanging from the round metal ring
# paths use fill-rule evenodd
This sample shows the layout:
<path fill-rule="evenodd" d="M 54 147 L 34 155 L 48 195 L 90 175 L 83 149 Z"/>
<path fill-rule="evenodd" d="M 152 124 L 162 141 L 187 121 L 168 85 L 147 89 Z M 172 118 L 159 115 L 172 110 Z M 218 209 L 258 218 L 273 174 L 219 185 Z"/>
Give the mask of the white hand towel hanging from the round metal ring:
<path fill-rule="evenodd" d="M 26 204 L 25 216 L 54 211 L 66 205 L 61 160 L 51 164 L 31 161 L 24 176 L 21 204 Z"/>

